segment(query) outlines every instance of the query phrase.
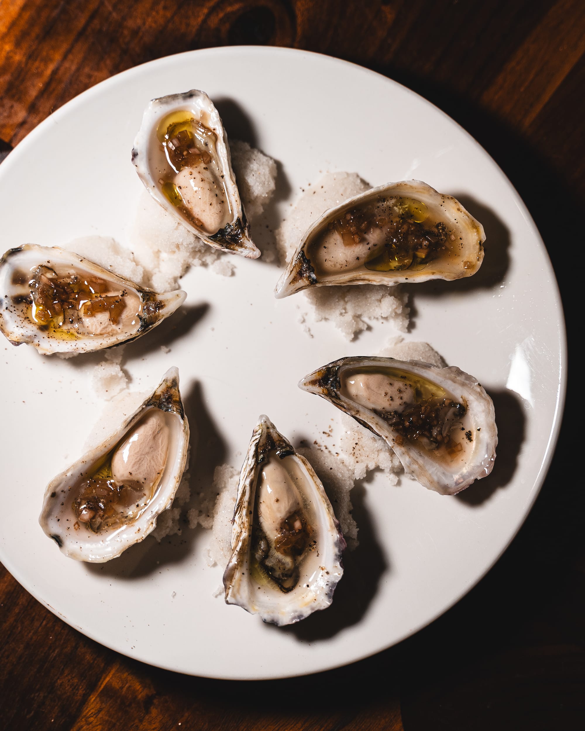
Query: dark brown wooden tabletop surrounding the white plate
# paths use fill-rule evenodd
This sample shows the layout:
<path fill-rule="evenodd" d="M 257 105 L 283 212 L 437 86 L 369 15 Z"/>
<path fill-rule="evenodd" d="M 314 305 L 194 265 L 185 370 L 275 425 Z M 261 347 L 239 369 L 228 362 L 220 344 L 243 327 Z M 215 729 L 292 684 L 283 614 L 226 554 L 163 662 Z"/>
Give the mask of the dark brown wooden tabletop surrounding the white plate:
<path fill-rule="evenodd" d="M 569 330 L 581 325 L 584 0 L 0 0 L 0 155 L 116 72 L 230 43 L 355 61 L 453 116 L 524 197 L 554 263 Z M 3 571 L 0 727 L 581 731 L 579 370 L 575 363 L 551 471 L 518 537 L 477 587 L 415 637 L 306 678 L 189 678 L 88 640 Z"/>

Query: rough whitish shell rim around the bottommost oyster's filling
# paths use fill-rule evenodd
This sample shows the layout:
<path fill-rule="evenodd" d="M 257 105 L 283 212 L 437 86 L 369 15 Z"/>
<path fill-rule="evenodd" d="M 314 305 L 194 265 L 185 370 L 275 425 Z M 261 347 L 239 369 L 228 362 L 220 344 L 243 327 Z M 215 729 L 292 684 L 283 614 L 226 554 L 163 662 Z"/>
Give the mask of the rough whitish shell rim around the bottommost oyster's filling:
<path fill-rule="evenodd" d="M 272 586 L 258 586 L 249 570 L 257 477 L 271 452 L 280 459 L 293 455 L 301 465 L 306 477 L 303 499 L 312 504 L 319 521 L 317 550 L 303 559 L 301 578 L 287 594 Z M 268 417 L 260 416 L 240 474 L 233 518 L 232 556 L 224 572 L 226 603 L 243 607 L 252 614 L 259 614 L 263 621 L 279 626 L 301 621 L 314 611 L 331 605 L 333 591 L 343 575 L 341 555 L 344 548 L 339 523 L 314 469 L 276 431 Z"/>

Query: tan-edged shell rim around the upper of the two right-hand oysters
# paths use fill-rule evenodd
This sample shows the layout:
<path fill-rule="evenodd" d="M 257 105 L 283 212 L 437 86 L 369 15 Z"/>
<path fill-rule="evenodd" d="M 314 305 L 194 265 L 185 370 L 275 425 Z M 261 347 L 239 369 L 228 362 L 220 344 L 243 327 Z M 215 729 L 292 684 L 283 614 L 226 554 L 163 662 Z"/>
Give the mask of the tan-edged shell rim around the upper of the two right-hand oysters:
<path fill-rule="evenodd" d="M 431 260 L 426 267 L 419 270 L 404 269 L 388 272 L 358 270 L 331 274 L 326 279 L 317 276 L 313 265 L 306 256 L 309 244 L 330 221 L 338 218 L 341 213 L 379 196 L 408 197 L 422 201 L 431 213 L 437 214 L 439 220 L 444 221 L 448 227 L 456 228 L 458 232 L 461 232 L 457 265 L 445 265 L 438 258 Z M 422 181 L 386 183 L 377 188 L 366 190 L 366 192 L 345 200 L 335 208 L 325 211 L 321 218 L 309 227 L 309 230 L 301 238 L 278 284 L 276 284 L 275 295 L 277 299 L 281 299 L 293 295 L 295 292 L 301 292 L 301 289 L 307 287 L 323 287 L 335 284 L 386 284 L 391 287 L 394 284 L 406 281 L 461 279 L 461 277 L 472 276 L 480 268 L 483 260 L 483 242 L 485 240 L 486 235 L 483 232 L 483 226 L 452 196 L 439 193 Z"/>

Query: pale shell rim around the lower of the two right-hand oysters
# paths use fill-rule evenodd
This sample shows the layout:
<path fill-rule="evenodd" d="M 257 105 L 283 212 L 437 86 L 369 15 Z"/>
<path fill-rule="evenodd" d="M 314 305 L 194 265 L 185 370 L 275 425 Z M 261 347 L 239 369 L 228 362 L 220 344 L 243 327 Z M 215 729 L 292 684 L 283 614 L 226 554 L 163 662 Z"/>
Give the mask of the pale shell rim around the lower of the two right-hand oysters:
<path fill-rule="evenodd" d="M 433 458 L 431 450 L 417 447 L 407 440 L 404 440 L 403 444 L 396 443 L 396 432 L 390 428 L 388 422 L 371 409 L 341 395 L 339 389 L 343 371 L 363 366 L 399 368 L 401 371 L 422 376 L 436 383 L 455 398 L 464 399 L 475 435 L 467 462 L 459 465 L 457 469 L 450 470 Z M 420 360 L 396 360 L 374 356 L 348 357 L 334 360 L 333 363 L 305 376 L 298 386 L 331 401 L 331 404 L 338 409 L 350 414 L 361 425 L 385 439 L 396 452 L 404 471 L 429 490 L 442 495 L 455 495 L 475 480 L 486 477 L 494 466 L 498 443 L 494 404 L 478 380 L 460 368 L 455 366 L 437 368 Z"/>

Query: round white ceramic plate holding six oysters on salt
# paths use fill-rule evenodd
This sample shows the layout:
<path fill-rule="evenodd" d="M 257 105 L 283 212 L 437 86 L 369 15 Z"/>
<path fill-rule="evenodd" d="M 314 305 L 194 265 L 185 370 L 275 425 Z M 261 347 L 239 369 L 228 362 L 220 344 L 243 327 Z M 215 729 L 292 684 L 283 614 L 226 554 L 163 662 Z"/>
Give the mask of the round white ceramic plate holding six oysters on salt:
<path fill-rule="evenodd" d="M 0 166 L 4 251 L 84 235 L 127 240 L 141 183 L 130 162 L 148 100 L 201 88 L 228 132 L 281 162 L 276 224 L 320 171 L 357 171 L 372 185 L 418 178 L 455 194 L 486 227 L 486 258 L 469 280 L 412 287 L 413 340 L 494 395 L 500 431 L 494 473 L 460 498 L 381 475 L 355 488 L 361 546 L 330 609 L 298 626 L 264 625 L 212 593 L 208 531 L 148 538 L 111 564 L 65 558 L 37 523 L 46 483 L 80 454 L 101 404 L 94 356 L 46 358 L 0 342 L 0 558 L 51 611 L 99 643 L 182 673 L 279 678 L 336 667 L 416 632 L 453 605 L 505 550 L 546 474 L 565 390 L 565 331 L 543 242 L 494 161 L 429 102 L 333 58 L 281 48 L 218 48 L 162 58 L 98 84 L 40 124 Z M 253 231 L 254 232 L 254 231 Z M 260 245 L 262 238 L 260 237 Z M 313 438 L 333 406 L 298 379 L 344 356 L 377 352 L 390 326 L 347 344 L 328 323 L 314 338 L 296 322 L 301 295 L 277 301 L 275 266 L 233 257 L 235 277 L 195 268 L 190 314 L 128 346 L 133 389 L 179 367 L 201 431 L 193 469 L 241 464 L 260 413 L 291 439 Z M 202 307 L 205 303 L 208 307 Z M 203 317 L 197 319 L 203 312 Z M 167 343 L 170 353 L 162 352 Z M 199 386 L 195 386 L 195 382 Z"/>

